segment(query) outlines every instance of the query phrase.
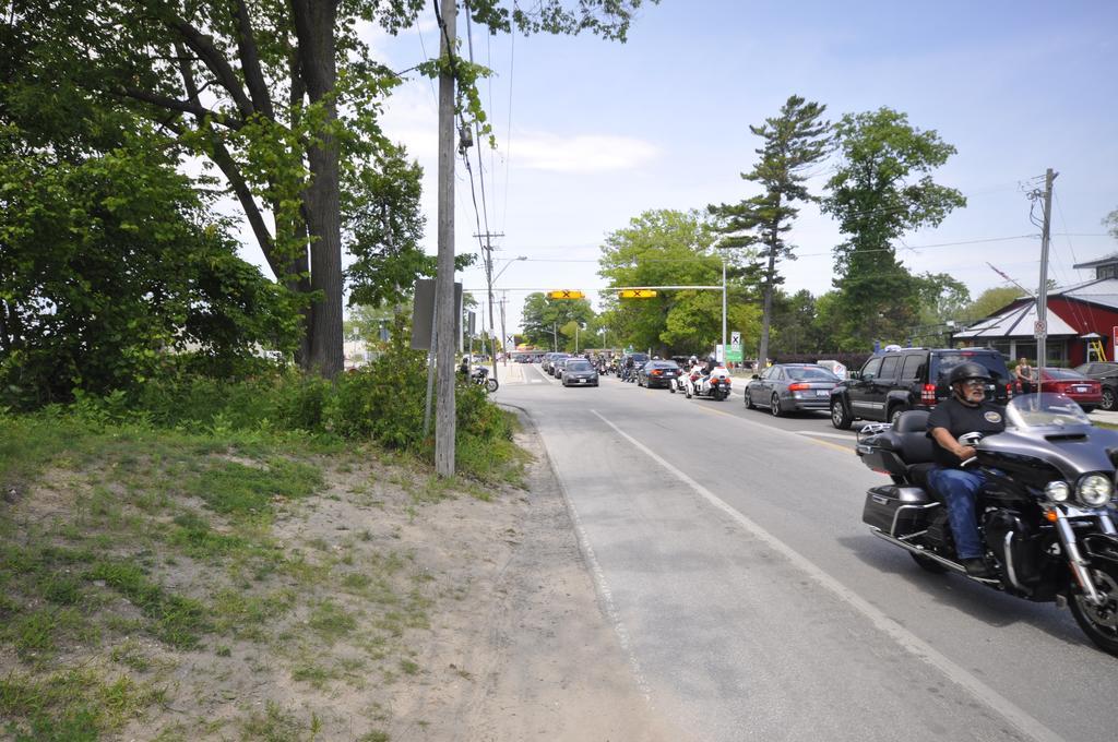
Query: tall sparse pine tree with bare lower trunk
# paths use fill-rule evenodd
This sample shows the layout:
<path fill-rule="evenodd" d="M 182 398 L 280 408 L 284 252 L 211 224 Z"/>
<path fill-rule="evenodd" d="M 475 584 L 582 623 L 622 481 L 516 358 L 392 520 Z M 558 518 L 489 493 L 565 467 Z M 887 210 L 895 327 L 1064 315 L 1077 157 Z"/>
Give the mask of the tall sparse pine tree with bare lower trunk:
<path fill-rule="evenodd" d="M 733 245 L 760 245 L 758 259 L 764 267 L 764 305 L 761 311 L 761 336 L 758 354 L 768 358 L 769 324 L 773 315 L 773 292 L 784 282 L 777 275 L 780 259 L 795 259 L 794 246 L 785 240 L 792 222 L 799 213 L 797 201 L 814 201 L 804 184 L 805 171 L 827 155 L 831 123 L 823 121 L 826 106 L 808 103 L 798 95 L 789 96 L 780 107 L 780 115 L 766 118 L 760 126 L 749 131 L 760 136 L 764 144 L 755 150 L 760 161 L 743 180 L 758 183 L 764 192 L 736 204 L 711 206 L 710 211 L 721 220 L 720 231 L 726 235 L 751 232 L 743 237 L 730 237 L 726 241 Z"/>

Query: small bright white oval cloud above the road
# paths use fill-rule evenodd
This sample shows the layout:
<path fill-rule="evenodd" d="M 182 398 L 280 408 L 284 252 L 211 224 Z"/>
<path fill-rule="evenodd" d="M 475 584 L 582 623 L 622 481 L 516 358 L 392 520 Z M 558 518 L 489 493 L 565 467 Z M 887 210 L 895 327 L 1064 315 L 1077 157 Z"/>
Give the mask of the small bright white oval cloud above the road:
<path fill-rule="evenodd" d="M 606 134 L 514 134 L 509 151 L 517 168 L 570 173 L 632 170 L 660 154 L 650 142 Z"/>

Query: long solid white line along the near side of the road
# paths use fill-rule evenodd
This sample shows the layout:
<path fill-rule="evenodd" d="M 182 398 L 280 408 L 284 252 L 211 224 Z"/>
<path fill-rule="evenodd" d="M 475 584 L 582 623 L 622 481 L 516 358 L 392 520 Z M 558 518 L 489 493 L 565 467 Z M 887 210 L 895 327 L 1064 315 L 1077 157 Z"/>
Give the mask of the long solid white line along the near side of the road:
<path fill-rule="evenodd" d="M 788 546 L 752 520 L 731 507 L 726 501 L 712 493 L 710 489 L 692 479 L 682 470 L 672 466 L 672 464 L 653 453 L 650 448 L 618 428 L 612 421 L 607 420 L 600 412 L 597 410 L 590 411 L 597 415 L 603 422 L 613 428 L 617 435 L 631 443 L 637 450 L 647 455 L 648 458 L 660 464 L 678 479 L 694 489 L 695 493 L 703 497 L 708 503 L 729 515 L 731 520 L 754 536 L 760 539 L 770 548 L 784 554 L 785 559 L 792 562 L 793 565 L 806 572 L 813 580 L 830 590 L 840 600 L 843 600 L 856 611 L 865 616 L 870 622 L 872 622 L 881 631 L 884 631 L 907 651 L 928 663 L 932 667 L 936 667 L 950 681 L 969 691 L 975 697 L 985 703 L 992 710 L 996 711 L 1007 722 L 1017 727 L 1017 731 L 1032 738 L 1033 740 L 1036 740 L 1038 742 L 1063 742 L 1062 736 L 1050 730 L 1036 719 L 1030 716 L 1025 710 L 1021 708 L 997 691 L 979 681 L 969 672 L 949 659 L 946 655 L 934 648 L 927 641 L 919 638 L 893 619 L 889 618 L 889 616 L 887 616 L 881 609 L 863 599 L 853 590 L 846 588 L 842 582 L 824 572 L 792 546 Z"/>

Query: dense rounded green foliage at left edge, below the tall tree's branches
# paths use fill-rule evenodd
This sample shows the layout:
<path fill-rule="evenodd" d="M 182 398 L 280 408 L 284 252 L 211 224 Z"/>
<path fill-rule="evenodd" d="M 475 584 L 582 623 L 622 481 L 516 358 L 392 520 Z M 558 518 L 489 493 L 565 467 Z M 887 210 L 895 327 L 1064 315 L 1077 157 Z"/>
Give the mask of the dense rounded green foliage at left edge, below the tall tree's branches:
<path fill-rule="evenodd" d="M 188 344 L 212 372 L 293 346 L 295 307 L 236 257 L 164 140 L 70 163 L 20 136 L 0 132 L 0 402 L 134 389 Z"/>

